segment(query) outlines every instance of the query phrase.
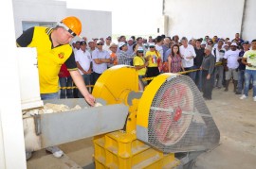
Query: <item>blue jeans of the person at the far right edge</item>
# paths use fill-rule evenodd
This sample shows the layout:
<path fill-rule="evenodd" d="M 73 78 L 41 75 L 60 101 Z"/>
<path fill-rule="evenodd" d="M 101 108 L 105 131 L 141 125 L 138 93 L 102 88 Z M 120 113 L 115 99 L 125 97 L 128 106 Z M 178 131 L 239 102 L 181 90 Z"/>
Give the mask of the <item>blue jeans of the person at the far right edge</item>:
<path fill-rule="evenodd" d="M 248 96 L 249 82 L 252 79 L 252 89 L 253 89 L 252 96 L 255 97 L 256 96 L 256 71 L 246 70 L 245 78 L 246 78 L 246 83 L 245 83 L 244 94 Z"/>

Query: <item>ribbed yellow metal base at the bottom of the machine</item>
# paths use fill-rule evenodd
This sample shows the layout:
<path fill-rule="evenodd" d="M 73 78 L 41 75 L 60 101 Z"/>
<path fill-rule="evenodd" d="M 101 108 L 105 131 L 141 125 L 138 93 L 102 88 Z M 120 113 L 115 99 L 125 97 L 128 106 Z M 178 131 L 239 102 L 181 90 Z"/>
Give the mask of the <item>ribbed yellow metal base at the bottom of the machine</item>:
<path fill-rule="evenodd" d="M 94 144 L 97 169 L 155 169 L 174 168 L 178 165 L 174 154 L 164 155 L 143 144 L 137 140 L 136 133 L 115 131 L 95 137 Z"/>

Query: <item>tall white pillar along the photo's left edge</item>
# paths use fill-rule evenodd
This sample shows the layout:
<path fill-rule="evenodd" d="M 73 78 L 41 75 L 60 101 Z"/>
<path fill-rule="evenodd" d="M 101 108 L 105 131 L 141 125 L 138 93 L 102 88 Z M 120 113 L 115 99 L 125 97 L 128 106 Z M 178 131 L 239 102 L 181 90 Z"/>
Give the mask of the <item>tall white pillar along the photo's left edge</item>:
<path fill-rule="evenodd" d="M 0 45 L 3 46 L 0 66 L 0 168 L 26 169 L 24 130 L 19 89 L 18 56 L 15 44 L 12 2 L 0 6 L 2 32 Z M 8 45 L 7 45 L 8 44 Z M 3 61 L 2 61 L 3 62 Z M 4 82 L 3 82 L 4 81 Z"/>

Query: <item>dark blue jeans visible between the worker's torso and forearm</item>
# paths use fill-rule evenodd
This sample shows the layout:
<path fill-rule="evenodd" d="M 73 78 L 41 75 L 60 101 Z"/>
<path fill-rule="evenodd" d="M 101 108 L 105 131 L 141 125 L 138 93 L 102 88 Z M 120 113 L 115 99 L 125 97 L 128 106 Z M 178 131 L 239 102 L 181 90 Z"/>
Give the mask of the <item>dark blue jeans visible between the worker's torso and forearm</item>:
<path fill-rule="evenodd" d="M 72 77 L 60 77 L 59 78 L 61 87 L 72 87 Z M 61 89 L 61 98 L 73 98 L 72 89 Z"/>

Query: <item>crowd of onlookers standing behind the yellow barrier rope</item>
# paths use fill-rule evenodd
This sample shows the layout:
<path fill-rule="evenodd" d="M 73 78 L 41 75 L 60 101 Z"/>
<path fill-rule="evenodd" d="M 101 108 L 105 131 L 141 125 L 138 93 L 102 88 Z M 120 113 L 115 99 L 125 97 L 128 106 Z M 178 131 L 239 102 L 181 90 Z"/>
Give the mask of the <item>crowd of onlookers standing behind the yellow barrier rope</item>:
<path fill-rule="evenodd" d="M 255 40 L 242 40 L 236 33 L 232 40 L 217 36 L 191 40 L 182 37 L 180 40 L 178 35 L 161 35 L 155 39 L 151 36 L 148 39 L 131 36 L 126 40 L 125 36 L 120 36 L 115 43 L 111 36 L 89 41 L 82 38 L 82 41 L 72 42 L 72 46 L 87 85 L 94 85 L 106 69 L 124 64 L 135 66 L 144 85 L 151 82 L 143 80 L 144 77 L 185 72 L 206 100 L 211 99 L 213 88 L 224 88 L 228 92 L 232 80 L 233 92 L 242 94 L 241 99 L 247 98 L 247 91 L 253 86 L 252 96 L 256 101 L 255 43 Z M 66 77 L 66 86 L 69 86 Z M 92 91 L 91 88 L 88 90 Z M 66 94 L 69 93 L 67 91 Z M 79 95 L 74 94 L 74 97 Z"/>

